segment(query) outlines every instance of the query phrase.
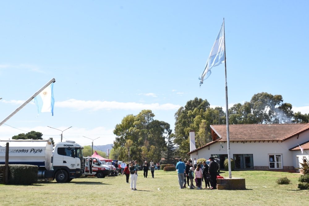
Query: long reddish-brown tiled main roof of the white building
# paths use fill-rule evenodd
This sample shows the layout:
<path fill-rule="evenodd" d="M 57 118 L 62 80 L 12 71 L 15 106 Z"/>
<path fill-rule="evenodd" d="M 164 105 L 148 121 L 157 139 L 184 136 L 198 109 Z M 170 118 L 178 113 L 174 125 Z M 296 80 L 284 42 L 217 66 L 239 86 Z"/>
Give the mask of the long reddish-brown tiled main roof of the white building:
<path fill-rule="evenodd" d="M 221 141 L 226 141 L 226 125 L 211 125 Z M 230 141 L 284 141 L 309 130 L 309 124 L 230 125 Z"/>

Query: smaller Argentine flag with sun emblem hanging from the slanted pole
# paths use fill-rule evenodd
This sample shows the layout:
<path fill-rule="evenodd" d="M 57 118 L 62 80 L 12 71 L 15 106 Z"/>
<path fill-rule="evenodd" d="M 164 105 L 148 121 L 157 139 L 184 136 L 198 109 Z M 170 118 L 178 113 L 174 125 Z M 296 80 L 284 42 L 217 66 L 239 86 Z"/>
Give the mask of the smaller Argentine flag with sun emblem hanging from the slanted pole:
<path fill-rule="evenodd" d="M 52 82 L 40 94 L 34 97 L 33 102 L 38 107 L 39 114 L 41 112 L 51 112 L 52 116 L 54 116 L 53 109 L 54 109 L 55 100 L 54 100 L 54 94 L 53 94 L 53 86 L 54 86 L 54 83 Z"/>

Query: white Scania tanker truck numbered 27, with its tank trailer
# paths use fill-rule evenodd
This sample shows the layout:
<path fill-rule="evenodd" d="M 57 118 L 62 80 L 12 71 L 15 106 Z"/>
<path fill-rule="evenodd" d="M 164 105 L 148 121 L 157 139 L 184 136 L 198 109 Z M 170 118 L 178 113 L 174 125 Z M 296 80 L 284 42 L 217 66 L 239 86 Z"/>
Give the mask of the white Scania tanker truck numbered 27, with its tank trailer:
<path fill-rule="evenodd" d="M 38 178 L 53 178 L 70 182 L 84 175 L 83 146 L 74 141 L 58 142 L 54 149 L 51 140 L 0 140 L 0 164 L 5 163 L 6 142 L 9 142 L 9 164 L 28 164 L 39 167 Z"/>

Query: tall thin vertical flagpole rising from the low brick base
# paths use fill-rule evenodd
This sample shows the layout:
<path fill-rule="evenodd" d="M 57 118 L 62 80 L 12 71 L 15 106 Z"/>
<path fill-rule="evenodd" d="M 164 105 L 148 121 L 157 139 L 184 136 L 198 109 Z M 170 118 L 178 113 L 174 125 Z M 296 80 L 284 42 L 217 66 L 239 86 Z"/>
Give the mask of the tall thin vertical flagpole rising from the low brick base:
<path fill-rule="evenodd" d="M 223 18 L 223 34 L 224 34 L 227 158 L 229 160 L 229 177 L 232 178 L 232 172 L 231 172 L 231 150 L 230 150 L 230 132 L 229 132 L 229 107 L 228 107 L 228 101 L 227 101 L 227 80 L 226 80 L 226 53 L 225 53 L 225 26 L 224 26 L 224 18 Z"/>

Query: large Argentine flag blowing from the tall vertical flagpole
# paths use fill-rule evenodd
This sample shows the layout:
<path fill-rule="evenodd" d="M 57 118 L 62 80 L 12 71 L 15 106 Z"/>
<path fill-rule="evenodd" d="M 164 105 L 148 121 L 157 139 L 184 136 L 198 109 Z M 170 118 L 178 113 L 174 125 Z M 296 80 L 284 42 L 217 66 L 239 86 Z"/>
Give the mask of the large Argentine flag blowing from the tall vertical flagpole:
<path fill-rule="evenodd" d="M 200 74 L 200 76 L 198 77 L 198 79 L 201 80 L 200 86 L 201 86 L 201 84 L 203 84 L 203 81 L 210 76 L 210 74 L 211 74 L 210 69 L 215 67 L 215 66 L 218 66 L 219 64 L 222 64 L 222 62 L 224 62 L 224 27 L 223 27 L 223 23 L 222 23 L 221 29 L 219 31 L 219 34 L 217 36 L 217 39 L 214 42 L 214 46 L 212 47 L 212 49 L 210 51 L 210 55 L 208 57 L 206 65 L 205 65 L 205 69 Z"/>

